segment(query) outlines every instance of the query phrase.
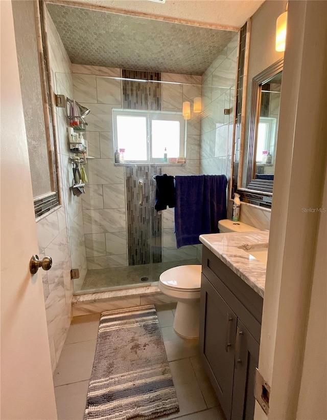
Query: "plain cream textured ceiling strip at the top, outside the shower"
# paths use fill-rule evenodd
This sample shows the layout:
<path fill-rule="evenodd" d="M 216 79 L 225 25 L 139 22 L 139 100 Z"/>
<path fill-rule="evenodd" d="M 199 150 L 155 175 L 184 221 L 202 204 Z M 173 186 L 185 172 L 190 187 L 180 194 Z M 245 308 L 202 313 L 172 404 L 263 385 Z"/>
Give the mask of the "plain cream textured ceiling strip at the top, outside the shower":
<path fill-rule="evenodd" d="M 147 0 L 71 0 L 71 2 L 241 28 L 264 0 L 166 0 L 165 4 Z"/>

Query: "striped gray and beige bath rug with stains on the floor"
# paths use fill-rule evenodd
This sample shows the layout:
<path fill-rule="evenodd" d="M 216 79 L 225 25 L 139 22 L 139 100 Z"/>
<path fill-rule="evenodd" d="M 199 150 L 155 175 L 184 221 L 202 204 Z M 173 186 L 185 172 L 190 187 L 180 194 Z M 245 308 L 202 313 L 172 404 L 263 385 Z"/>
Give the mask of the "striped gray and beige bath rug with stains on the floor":
<path fill-rule="evenodd" d="M 102 312 L 84 420 L 150 420 L 176 411 L 154 305 Z"/>

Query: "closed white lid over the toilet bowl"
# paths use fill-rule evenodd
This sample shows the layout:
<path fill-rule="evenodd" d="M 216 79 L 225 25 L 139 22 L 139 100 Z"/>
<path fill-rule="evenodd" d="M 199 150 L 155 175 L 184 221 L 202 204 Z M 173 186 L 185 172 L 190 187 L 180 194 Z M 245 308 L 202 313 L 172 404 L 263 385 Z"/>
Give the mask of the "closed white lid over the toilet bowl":
<path fill-rule="evenodd" d="M 160 274 L 159 281 L 174 289 L 200 289 L 201 265 L 180 265 Z"/>

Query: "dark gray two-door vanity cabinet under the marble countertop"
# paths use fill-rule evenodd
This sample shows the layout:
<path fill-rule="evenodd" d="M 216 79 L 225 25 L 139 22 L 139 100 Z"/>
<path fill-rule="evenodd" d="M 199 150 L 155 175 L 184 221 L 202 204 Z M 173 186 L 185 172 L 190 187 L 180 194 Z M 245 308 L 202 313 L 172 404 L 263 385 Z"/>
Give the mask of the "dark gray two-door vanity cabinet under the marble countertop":
<path fill-rule="evenodd" d="M 252 420 L 263 298 L 203 247 L 200 351 L 227 420 Z"/>

